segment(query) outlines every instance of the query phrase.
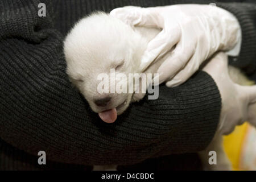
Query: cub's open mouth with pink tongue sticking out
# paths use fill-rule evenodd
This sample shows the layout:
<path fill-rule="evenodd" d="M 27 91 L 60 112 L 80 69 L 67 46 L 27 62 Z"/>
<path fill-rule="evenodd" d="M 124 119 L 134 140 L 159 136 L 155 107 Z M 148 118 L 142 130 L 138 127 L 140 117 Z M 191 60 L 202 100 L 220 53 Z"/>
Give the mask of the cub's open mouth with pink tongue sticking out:
<path fill-rule="evenodd" d="M 102 111 L 101 113 L 98 113 L 98 116 L 102 119 L 102 121 L 106 123 L 113 123 L 117 119 L 117 110 L 125 106 L 127 103 L 127 100 L 123 101 L 122 104 L 117 106 L 114 109 L 109 109 Z"/>

